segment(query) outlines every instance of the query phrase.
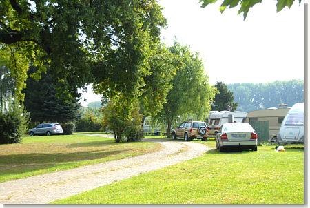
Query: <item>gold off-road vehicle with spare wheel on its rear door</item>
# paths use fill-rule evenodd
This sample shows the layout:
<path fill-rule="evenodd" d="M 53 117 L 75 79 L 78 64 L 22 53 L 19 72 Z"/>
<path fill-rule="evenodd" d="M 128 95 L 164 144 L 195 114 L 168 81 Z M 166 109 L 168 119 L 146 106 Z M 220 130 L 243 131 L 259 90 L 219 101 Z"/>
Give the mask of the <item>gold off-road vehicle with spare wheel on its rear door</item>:
<path fill-rule="evenodd" d="M 185 121 L 172 130 L 172 139 L 184 138 L 185 141 L 200 138 L 206 141 L 208 138 L 207 124 L 203 121 Z"/>

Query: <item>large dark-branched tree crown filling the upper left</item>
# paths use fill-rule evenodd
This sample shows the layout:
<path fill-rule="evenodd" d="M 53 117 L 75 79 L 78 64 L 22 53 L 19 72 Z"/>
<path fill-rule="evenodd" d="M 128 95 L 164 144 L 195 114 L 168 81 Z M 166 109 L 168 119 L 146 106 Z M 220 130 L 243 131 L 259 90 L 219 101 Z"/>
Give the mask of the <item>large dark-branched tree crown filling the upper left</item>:
<path fill-rule="evenodd" d="M 94 82 L 105 97 L 138 93 L 165 25 L 155 0 L 4 0 L 0 11 L 0 50 L 12 49 L 6 60 L 23 54 L 37 68 L 32 76 L 49 69 L 65 90 Z"/>

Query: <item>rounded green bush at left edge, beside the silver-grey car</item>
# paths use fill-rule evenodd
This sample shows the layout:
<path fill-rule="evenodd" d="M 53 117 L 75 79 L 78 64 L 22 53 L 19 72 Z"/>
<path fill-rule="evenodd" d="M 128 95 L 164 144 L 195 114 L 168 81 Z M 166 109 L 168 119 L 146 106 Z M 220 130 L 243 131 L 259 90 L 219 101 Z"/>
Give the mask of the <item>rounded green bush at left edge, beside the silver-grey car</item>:
<path fill-rule="evenodd" d="M 8 106 L 8 111 L 0 112 L 0 144 L 20 143 L 28 129 L 28 113 L 17 98 Z"/>

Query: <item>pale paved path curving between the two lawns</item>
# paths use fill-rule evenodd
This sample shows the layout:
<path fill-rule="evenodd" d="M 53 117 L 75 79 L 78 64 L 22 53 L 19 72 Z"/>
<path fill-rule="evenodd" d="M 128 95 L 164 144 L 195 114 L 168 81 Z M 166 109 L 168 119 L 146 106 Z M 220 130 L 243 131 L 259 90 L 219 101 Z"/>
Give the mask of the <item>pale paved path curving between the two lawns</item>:
<path fill-rule="evenodd" d="M 96 136 L 105 135 L 98 134 Z M 158 139 L 147 139 L 147 141 L 160 143 L 164 148 L 158 152 L 133 158 L 87 165 L 0 183 L 0 203 L 49 203 L 118 180 L 174 165 L 200 156 L 208 150 L 205 145 L 199 143 Z"/>

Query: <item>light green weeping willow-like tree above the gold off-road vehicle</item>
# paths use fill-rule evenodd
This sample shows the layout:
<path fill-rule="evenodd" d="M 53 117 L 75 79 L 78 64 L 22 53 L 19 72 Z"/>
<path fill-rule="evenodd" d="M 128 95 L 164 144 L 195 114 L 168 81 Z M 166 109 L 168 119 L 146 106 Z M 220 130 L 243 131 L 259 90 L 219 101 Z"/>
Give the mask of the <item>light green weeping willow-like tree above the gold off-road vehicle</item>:
<path fill-rule="evenodd" d="M 163 104 L 163 109 L 156 116 L 166 123 L 167 136 L 170 135 L 177 116 L 193 116 L 194 119 L 205 120 L 216 92 L 209 85 L 203 61 L 198 54 L 193 54 L 188 47 L 176 42 L 170 52 L 178 56 L 178 61 L 174 62 L 178 70 L 171 81 L 172 90 L 167 94 L 167 103 Z"/>

